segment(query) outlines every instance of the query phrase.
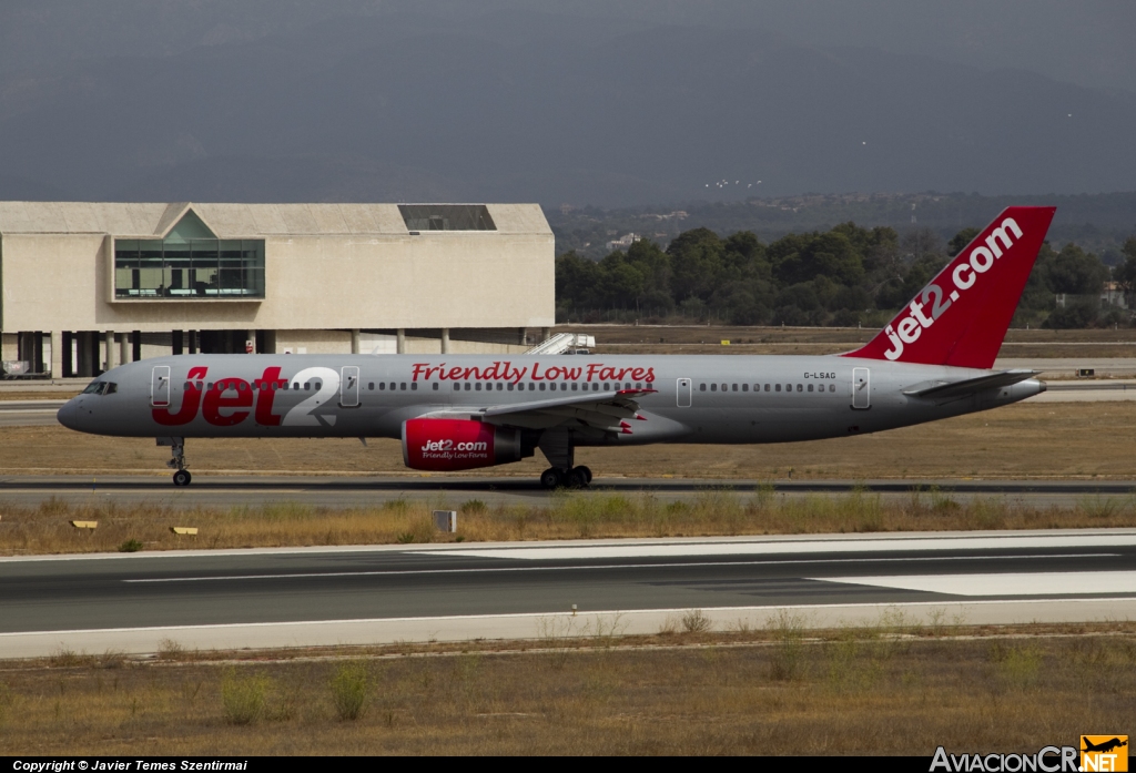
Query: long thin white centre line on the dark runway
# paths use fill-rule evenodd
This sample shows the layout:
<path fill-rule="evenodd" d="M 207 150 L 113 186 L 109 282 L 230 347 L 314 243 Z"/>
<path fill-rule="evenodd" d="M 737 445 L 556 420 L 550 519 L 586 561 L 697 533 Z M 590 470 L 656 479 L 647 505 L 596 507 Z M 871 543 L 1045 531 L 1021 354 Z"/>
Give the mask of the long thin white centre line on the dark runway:
<path fill-rule="evenodd" d="M 1068 555 L 1009 555 L 993 556 L 999 561 L 1020 561 L 1022 558 L 1114 558 L 1119 553 L 1070 553 Z M 596 571 L 600 569 L 686 569 L 691 566 L 791 566 L 804 564 L 843 564 L 843 563 L 888 563 L 895 561 L 987 561 L 988 555 L 934 556 L 918 558 L 801 558 L 791 561 L 701 561 L 694 563 L 668 564 L 587 564 L 584 566 L 493 566 L 484 569 L 407 569 L 377 570 L 371 572 L 291 572 L 286 574 L 220 574 L 212 577 L 151 577 L 123 580 L 123 582 L 215 582 L 218 580 L 295 580 L 321 577 L 402 577 L 409 574 L 485 574 L 493 572 L 568 572 Z"/>

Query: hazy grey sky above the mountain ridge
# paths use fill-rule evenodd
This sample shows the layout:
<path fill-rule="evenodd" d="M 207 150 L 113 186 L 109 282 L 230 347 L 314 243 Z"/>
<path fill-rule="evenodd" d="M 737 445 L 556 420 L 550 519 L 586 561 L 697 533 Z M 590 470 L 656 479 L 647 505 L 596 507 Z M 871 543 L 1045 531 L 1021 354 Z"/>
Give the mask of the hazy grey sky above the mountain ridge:
<path fill-rule="evenodd" d="M 321 18 L 415 10 L 463 18 L 520 8 L 613 24 L 766 28 L 816 45 L 862 45 L 1013 67 L 1094 89 L 1136 91 L 1133 0 L 3 0 L 0 61 L 36 69 L 70 57 L 174 53 Z"/>

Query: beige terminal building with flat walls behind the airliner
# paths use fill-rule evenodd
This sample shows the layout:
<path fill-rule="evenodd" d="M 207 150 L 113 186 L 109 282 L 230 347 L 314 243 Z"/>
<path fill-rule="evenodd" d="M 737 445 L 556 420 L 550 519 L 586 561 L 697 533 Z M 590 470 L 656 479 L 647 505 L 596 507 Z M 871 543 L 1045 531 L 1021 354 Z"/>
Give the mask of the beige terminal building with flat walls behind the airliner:
<path fill-rule="evenodd" d="M 515 353 L 554 309 L 537 204 L 0 202 L 8 372 L 193 352 Z"/>

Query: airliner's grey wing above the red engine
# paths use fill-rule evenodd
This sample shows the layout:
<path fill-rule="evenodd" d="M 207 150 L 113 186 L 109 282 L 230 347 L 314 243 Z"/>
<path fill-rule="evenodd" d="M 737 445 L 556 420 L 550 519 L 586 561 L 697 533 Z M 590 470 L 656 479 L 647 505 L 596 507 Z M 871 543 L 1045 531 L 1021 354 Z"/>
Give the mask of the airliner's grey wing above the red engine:
<path fill-rule="evenodd" d="M 578 422 L 594 429 L 630 434 L 630 419 L 642 419 L 638 414 L 638 398 L 650 395 L 657 389 L 618 389 L 610 392 L 590 392 L 536 400 L 509 405 L 488 405 L 468 410 L 450 409 L 444 415 L 460 414 L 466 418 L 482 418 L 493 425 L 524 427 L 526 429 L 548 429 L 566 422 Z M 428 413 L 424 418 L 442 418 L 443 412 Z"/>

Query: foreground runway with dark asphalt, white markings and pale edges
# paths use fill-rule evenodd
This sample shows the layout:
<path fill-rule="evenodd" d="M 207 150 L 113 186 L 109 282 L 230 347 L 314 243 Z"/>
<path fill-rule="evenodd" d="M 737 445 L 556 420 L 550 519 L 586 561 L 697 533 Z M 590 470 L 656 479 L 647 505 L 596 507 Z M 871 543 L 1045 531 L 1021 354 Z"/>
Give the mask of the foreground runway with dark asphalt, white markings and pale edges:
<path fill-rule="evenodd" d="M 0 558 L 0 657 L 1136 616 L 1136 529 Z M 575 611 L 575 612 L 574 612 Z M 169 645 L 166 645 L 169 646 Z"/>

